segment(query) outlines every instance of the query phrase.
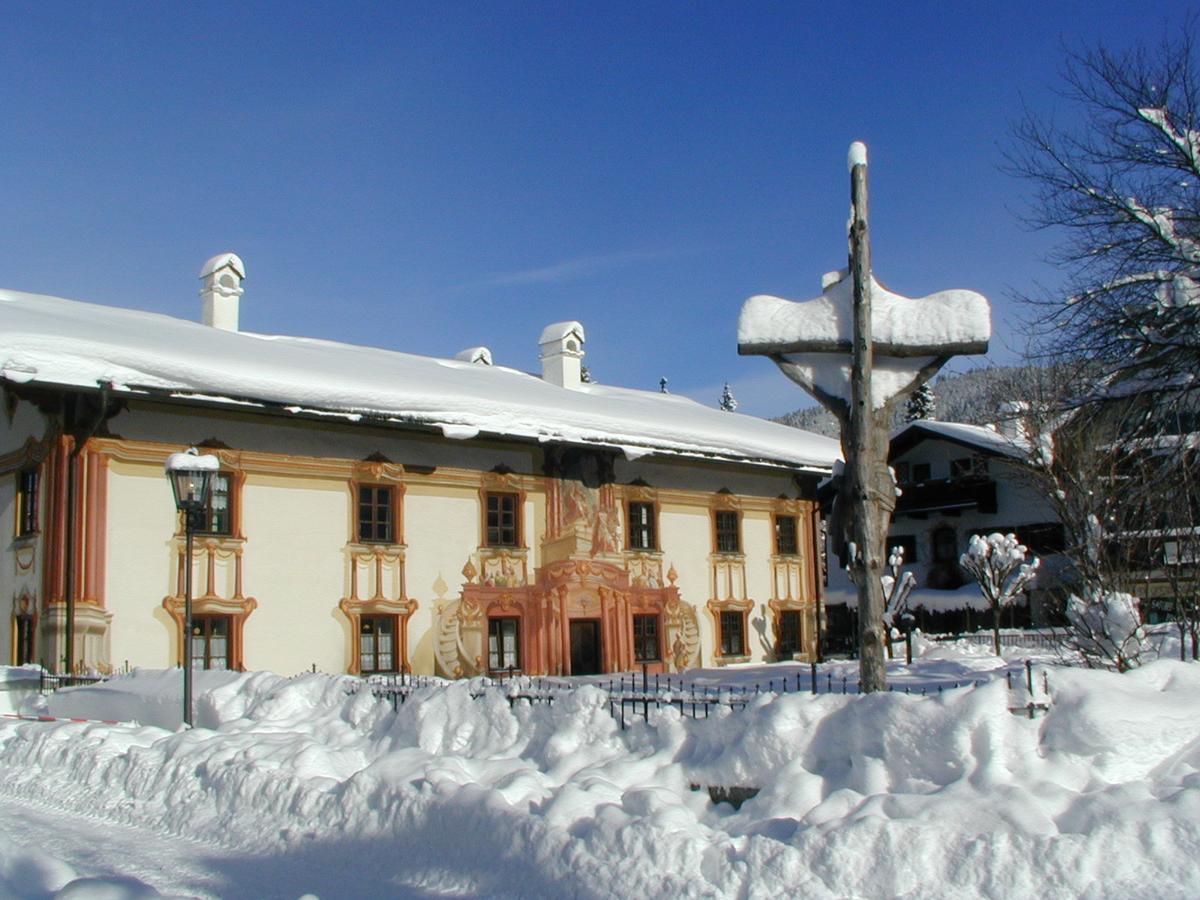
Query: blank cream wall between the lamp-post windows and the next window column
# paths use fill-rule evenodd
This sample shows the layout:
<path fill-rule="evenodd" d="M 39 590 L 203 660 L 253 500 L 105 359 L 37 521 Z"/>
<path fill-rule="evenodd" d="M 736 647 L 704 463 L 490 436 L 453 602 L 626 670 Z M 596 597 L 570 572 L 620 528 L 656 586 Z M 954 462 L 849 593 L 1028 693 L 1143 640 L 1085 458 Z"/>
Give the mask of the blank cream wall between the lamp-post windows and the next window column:
<path fill-rule="evenodd" d="M 241 502 L 242 588 L 258 601 L 244 631 L 246 668 L 344 672 L 348 625 L 337 602 L 349 589 L 346 481 L 251 473 Z"/>

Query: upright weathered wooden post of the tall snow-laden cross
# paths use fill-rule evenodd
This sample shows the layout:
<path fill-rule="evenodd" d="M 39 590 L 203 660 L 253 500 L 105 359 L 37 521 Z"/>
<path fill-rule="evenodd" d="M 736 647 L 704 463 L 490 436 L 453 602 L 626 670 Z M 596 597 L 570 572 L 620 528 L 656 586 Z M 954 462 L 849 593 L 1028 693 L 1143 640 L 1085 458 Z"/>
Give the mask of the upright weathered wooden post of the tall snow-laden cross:
<path fill-rule="evenodd" d="M 860 149 L 860 150 L 859 150 Z M 846 493 L 850 498 L 851 535 L 856 545 L 850 566 L 858 587 L 858 683 L 864 694 L 888 689 L 883 660 L 883 544 L 887 522 L 880 516 L 880 468 L 887 470 L 887 428 L 871 397 L 871 242 L 868 227 L 866 152 L 851 148 L 850 270 L 854 286 L 851 356 L 850 427 L 846 455 Z M 882 431 L 882 439 L 880 432 Z"/>

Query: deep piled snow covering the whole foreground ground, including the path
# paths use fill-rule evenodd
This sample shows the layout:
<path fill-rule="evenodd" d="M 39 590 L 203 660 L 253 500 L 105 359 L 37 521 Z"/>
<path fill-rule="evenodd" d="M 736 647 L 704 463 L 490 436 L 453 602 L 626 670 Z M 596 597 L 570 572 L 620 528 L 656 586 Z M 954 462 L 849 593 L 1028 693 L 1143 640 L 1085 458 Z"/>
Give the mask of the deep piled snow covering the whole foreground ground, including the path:
<path fill-rule="evenodd" d="M 628 731 L 594 686 L 510 708 L 456 683 L 394 713 L 353 679 L 202 673 L 184 732 L 161 727 L 179 673 L 137 671 L 42 712 L 140 725 L 0 719 L 0 896 L 1200 895 L 1200 666 L 1042 661 L 1032 720 L 1006 668 L 943 646 L 906 676 L 941 694 Z"/>

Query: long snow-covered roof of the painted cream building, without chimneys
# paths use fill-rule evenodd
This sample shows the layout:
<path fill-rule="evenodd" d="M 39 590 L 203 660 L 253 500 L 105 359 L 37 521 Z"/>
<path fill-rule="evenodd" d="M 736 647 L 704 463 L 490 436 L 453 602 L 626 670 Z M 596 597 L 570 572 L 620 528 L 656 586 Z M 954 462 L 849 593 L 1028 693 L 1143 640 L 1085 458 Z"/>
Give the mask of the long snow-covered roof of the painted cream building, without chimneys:
<path fill-rule="evenodd" d="M 656 391 L 565 390 L 480 366 L 332 341 L 230 332 L 157 313 L 0 290 L 0 378 L 168 394 L 215 406 L 370 418 L 648 454 L 828 469 L 836 442 Z"/>

